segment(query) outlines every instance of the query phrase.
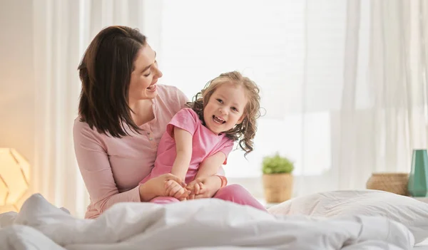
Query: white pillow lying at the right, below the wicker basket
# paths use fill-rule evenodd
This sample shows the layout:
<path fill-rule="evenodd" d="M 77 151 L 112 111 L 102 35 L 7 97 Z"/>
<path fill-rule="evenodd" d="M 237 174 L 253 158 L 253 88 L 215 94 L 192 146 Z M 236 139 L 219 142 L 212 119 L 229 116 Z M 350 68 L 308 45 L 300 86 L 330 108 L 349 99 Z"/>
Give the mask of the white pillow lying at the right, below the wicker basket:
<path fill-rule="evenodd" d="M 271 214 L 300 214 L 310 217 L 366 215 L 387 217 L 407 226 L 416 243 L 428 238 L 428 204 L 378 190 L 332 191 L 310 194 L 282 202 Z"/>

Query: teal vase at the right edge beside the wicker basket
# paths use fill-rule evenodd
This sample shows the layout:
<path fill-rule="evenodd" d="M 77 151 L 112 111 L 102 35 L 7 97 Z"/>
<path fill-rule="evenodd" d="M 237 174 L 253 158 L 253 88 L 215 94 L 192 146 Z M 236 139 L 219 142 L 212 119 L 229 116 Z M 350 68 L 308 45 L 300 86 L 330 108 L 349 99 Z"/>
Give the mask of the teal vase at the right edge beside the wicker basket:
<path fill-rule="evenodd" d="M 412 197 L 427 197 L 428 192 L 428 155 L 427 150 L 413 150 L 412 170 L 407 186 Z"/>

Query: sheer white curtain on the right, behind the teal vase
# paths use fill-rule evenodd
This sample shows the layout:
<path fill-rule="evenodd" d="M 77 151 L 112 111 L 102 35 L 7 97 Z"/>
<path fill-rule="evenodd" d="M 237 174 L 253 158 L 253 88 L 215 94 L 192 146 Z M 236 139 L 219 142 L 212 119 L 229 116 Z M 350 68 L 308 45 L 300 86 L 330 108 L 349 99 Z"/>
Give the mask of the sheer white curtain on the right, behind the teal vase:
<path fill-rule="evenodd" d="M 365 187 L 371 172 L 409 172 L 412 150 L 427 147 L 426 2 L 354 3 L 362 8 L 359 17 L 348 16 L 348 26 L 370 20 L 370 33 L 351 34 L 359 44 L 347 40 L 345 50 L 357 57 L 345 58 L 337 114 L 341 189 Z"/>

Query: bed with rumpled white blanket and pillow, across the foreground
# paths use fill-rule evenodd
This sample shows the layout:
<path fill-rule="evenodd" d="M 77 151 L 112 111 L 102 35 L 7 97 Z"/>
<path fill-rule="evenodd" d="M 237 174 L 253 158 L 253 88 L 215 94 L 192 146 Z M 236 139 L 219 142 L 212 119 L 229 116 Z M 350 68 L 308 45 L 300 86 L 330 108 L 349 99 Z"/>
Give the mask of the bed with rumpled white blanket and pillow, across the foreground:
<path fill-rule="evenodd" d="M 428 204 L 377 191 L 298 197 L 262 212 L 220 199 L 115 204 L 77 219 L 40 194 L 0 214 L 2 249 L 428 250 Z M 417 246 L 414 246 L 417 244 Z"/>

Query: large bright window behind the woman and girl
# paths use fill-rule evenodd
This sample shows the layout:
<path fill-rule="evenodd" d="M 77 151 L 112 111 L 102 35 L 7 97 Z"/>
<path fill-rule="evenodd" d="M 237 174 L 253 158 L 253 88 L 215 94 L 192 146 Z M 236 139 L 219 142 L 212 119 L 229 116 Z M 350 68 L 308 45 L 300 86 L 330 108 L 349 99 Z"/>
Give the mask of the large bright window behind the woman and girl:
<path fill-rule="evenodd" d="M 295 175 L 330 170 L 345 1 L 164 0 L 160 8 L 162 83 L 192 98 L 208 80 L 238 70 L 260 85 L 266 115 L 258 120 L 255 150 L 247 159 L 242 150 L 231 152 L 228 177 L 260 177 L 263 157 L 275 152 L 295 161 Z"/>

